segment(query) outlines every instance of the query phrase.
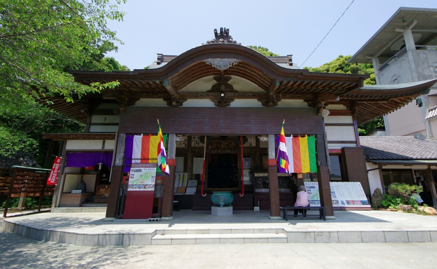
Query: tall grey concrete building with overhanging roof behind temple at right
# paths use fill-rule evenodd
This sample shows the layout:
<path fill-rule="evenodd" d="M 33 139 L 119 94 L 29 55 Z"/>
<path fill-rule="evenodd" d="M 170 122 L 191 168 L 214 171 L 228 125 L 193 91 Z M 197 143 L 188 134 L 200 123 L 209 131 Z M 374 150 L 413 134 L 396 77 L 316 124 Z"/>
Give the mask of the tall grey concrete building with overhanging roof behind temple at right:
<path fill-rule="evenodd" d="M 378 85 L 437 78 L 437 9 L 400 7 L 356 52 L 350 63 L 373 63 Z M 388 98 L 381 103 L 384 107 Z M 437 85 L 384 116 L 389 136 L 437 135 Z"/>

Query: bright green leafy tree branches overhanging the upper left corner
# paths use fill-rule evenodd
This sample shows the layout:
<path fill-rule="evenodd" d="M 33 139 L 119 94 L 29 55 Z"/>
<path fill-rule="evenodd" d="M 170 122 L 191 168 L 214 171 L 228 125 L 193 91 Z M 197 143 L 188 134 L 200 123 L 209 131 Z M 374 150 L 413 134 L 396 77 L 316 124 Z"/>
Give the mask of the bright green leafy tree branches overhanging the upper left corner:
<path fill-rule="evenodd" d="M 33 98 L 96 92 L 117 82 L 84 86 L 64 72 L 95 62 L 102 52 L 117 49 L 107 20 L 121 21 L 125 0 L 0 1 L 0 96 L 9 112 Z M 119 41 L 121 42 L 121 41 Z M 110 59 L 105 70 L 111 71 Z M 78 68 L 74 68 L 78 69 Z M 33 97 L 33 98 L 32 98 Z"/>

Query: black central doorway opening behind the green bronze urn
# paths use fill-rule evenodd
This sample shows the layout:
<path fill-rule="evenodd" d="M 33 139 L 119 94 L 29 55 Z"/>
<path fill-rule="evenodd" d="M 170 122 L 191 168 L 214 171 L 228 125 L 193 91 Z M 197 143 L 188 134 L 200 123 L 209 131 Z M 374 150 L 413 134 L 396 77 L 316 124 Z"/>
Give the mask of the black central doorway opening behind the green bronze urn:
<path fill-rule="evenodd" d="M 210 154 L 208 189 L 238 190 L 237 154 Z"/>

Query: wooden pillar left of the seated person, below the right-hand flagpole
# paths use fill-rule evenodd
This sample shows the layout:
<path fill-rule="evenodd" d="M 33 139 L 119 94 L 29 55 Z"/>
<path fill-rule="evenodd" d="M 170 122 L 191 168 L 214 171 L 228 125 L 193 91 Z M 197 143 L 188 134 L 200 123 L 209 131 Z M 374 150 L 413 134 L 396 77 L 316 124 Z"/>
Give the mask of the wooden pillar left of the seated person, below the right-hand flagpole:
<path fill-rule="evenodd" d="M 277 160 L 274 151 L 274 134 L 269 134 L 268 141 L 268 173 L 270 195 L 270 219 L 281 219 L 279 208 L 279 183 L 277 179 Z"/>

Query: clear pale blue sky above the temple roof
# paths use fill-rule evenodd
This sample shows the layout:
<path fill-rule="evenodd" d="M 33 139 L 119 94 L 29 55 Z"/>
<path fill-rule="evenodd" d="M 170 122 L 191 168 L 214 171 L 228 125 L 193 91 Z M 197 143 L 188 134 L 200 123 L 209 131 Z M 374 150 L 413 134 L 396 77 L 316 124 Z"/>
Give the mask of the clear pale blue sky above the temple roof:
<path fill-rule="evenodd" d="M 306 60 L 351 2 L 128 0 L 120 5 L 126 12 L 124 21 L 108 21 L 124 42 L 108 56 L 130 69 L 142 69 L 156 61 L 156 53 L 179 55 L 214 38 L 214 29 L 224 27 L 242 45 L 292 54 L 298 66 L 318 67 L 338 55 L 353 55 L 399 7 L 437 8 L 436 0 L 354 0 Z"/>

